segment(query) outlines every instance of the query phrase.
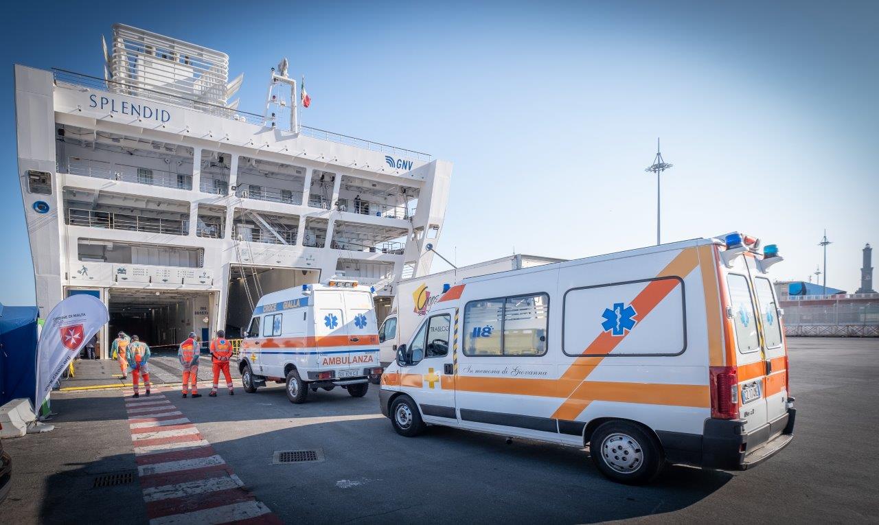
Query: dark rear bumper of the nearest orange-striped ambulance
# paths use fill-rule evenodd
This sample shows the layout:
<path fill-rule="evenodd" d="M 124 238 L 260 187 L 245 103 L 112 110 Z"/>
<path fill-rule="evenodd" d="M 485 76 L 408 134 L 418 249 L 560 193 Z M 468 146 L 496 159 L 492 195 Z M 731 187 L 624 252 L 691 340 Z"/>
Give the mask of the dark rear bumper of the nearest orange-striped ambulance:
<path fill-rule="evenodd" d="M 775 421 L 745 432 L 744 420 L 705 421 L 701 436 L 657 432 L 671 463 L 705 469 L 745 471 L 773 457 L 794 439 L 796 410 L 788 409 Z"/>

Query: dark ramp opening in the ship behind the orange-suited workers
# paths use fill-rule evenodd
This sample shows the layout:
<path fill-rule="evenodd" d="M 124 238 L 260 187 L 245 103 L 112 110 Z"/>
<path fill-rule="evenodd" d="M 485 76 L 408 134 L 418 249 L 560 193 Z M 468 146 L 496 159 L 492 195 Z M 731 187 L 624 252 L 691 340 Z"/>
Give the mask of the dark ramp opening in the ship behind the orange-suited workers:
<path fill-rule="evenodd" d="M 175 349 L 190 332 L 207 341 L 214 319 L 209 291 L 113 289 L 108 293 L 110 332 L 137 334 L 150 349 Z"/>

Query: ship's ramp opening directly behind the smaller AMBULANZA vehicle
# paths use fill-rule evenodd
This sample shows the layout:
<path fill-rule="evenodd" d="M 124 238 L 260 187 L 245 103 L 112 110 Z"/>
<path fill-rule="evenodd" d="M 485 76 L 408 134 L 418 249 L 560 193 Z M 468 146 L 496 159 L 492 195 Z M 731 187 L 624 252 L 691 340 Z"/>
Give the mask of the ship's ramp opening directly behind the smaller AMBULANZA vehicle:
<path fill-rule="evenodd" d="M 226 303 L 227 337 L 240 337 L 243 330 L 250 326 L 253 306 L 266 293 L 302 284 L 316 284 L 320 276 L 320 270 L 232 265 L 229 271 L 229 300 Z"/>

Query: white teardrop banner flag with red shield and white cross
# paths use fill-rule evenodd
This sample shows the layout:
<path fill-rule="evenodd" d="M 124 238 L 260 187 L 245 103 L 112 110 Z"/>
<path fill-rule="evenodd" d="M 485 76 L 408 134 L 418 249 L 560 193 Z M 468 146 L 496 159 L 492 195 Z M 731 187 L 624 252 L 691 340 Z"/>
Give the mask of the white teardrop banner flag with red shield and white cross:
<path fill-rule="evenodd" d="M 52 392 L 70 361 L 79 355 L 94 334 L 98 333 L 110 313 L 100 299 L 86 294 L 71 295 L 52 309 L 40 333 L 37 349 L 37 406 Z"/>

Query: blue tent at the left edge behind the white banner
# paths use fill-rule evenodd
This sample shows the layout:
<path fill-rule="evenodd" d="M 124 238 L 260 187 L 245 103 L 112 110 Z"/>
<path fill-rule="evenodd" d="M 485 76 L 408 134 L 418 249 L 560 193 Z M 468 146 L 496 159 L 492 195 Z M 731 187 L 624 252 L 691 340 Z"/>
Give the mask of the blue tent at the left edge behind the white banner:
<path fill-rule="evenodd" d="M 18 398 L 31 399 L 33 406 L 38 313 L 36 306 L 0 304 L 0 406 Z"/>

